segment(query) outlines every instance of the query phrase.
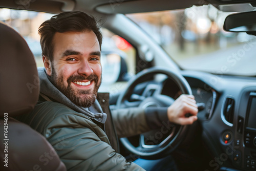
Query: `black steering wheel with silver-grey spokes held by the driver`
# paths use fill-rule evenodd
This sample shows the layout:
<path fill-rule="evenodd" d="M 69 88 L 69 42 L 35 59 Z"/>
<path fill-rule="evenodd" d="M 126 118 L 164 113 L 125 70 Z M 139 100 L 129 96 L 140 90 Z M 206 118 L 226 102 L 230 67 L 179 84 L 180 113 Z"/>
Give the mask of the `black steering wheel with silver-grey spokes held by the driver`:
<path fill-rule="evenodd" d="M 139 96 L 133 94 L 134 88 L 144 81 L 148 81 L 159 74 L 166 75 L 177 84 L 182 94 L 192 94 L 191 88 L 185 78 L 180 74 L 168 69 L 153 67 L 139 72 L 128 83 L 126 90 L 120 94 L 116 107 L 129 108 L 138 106 L 147 108 L 148 106 L 169 106 L 174 99 L 160 94 L 161 91 L 155 91 L 152 96 Z M 170 88 L 171 89 L 171 88 Z M 131 101 L 131 99 L 133 99 Z M 137 100 L 134 100 L 137 99 Z M 167 121 L 166 121 L 167 122 Z M 173 123 L 164 124 L 165 127 L 159 130 L 152 130 L 139 135 L 139 142 L 131 142 L 129 138 L 120 138 L 121 143 L 133 154 L 144 159 L 161 158 L 172 151 L 183 141 L 188 130 L 188 125 L 177 125 Z M 155 140 L 152 139 L 155 137 Z"/>

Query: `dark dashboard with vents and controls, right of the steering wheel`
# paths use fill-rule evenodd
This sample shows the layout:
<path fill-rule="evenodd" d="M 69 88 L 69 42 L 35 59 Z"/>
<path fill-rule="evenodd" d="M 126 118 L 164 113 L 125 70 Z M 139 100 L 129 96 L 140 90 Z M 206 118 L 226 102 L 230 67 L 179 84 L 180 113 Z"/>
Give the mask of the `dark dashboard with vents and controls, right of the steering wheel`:
<path fill-rule="evenodd" d="M 256 80 L 183 72 L 197 102 L 212 170 L 256 170 Z"/>

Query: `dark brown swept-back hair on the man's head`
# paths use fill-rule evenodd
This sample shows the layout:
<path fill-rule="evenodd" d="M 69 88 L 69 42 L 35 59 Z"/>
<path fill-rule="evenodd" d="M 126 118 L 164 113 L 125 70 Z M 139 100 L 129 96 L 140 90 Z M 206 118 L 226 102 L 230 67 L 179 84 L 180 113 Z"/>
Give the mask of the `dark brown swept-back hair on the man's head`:
<path fill-rule="evenodd" d="M 38 29 L 38 33 L 41 37 L 40 44 L 42 48 L 42 55 L 46 56 L 50 61 L 53 60 L 53 37 L 56 32 L 93 31 L 98 38 L 101 50 L 102 34 L 99 29 L 100 26 L 95 18 L 84 12 L 73 11 L 54 15 L 51 19 L 42 23 Z"/>

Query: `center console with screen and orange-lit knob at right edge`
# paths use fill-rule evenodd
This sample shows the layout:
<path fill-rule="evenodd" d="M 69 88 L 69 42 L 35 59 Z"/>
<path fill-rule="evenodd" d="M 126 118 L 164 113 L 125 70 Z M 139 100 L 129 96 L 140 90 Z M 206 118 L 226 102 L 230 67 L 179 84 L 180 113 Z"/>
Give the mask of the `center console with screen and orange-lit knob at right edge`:
<path fill-rule="evenodd" d="M 229 129 L 222 133 L 225 156 L 239 170 L 256 170 L 256 89 L 245 88 L 234 108 L 234 119 Z M 224 155 L 223 155 L 224 156 Z M 223 169 L 225 170 L 225 169 Z M 226 169 L 227 170 L 227 169 Z"/>

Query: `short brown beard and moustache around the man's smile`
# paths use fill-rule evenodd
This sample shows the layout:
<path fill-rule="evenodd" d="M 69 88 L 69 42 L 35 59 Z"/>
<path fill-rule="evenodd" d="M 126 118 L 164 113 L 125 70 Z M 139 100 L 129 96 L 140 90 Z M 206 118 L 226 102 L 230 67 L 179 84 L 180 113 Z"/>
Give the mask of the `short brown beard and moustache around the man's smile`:
<path fill-rule="evenodd" d="M 63 80 L 63 75 L 60 74 L 57 76 L 57 73 L 54 68 L 52 68 L 52 76 L 50 77 L 51 81 L 53 82 L 54 86 L 66 97 L 68 97 L 74 104 L 77 106 L 81 106 L 83 108 L 89 108 L 97 98 L 97 92 L 101 84 L 101 77 L 100 80 L 97 75 L 91 74 L 89 76 L 83 75 L 71 75 L 67 79 L 68 86 L 65 86 L 65 82 Z M 83 81 L 83 80 L 90 80 L 94 81 L 94 88 L 90 90 L 79 90 L 74 89 L 71 87 L 71 83 L 73 81 Z"/>

